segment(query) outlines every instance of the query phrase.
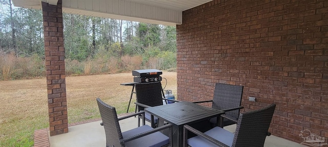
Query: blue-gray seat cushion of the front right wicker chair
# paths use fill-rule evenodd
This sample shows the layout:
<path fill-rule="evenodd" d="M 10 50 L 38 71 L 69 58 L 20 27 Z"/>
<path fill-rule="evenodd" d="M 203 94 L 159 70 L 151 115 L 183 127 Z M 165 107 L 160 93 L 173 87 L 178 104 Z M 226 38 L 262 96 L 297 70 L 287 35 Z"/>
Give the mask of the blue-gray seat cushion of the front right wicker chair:
<path fill-rule="evenodd" d="M 209 131 L 206 131 L 204 134 L 211 136 L 212 138 L 228 145 L 228 146 L 232 146 L 232 142 L 234 140 L 234 134 L 224 130 L 220 127 L 215 127 Z M 215 144 L 211 143 L 210 141 L 200 137 L 200 136 L 196 136 L 196 137 L 192 137 L 190 139 L 188 139 L 188 144 L 192 147 L 196 147 L 196 146 L 207 146 L 207 147 L 214 147 L 216 146 Z"/>

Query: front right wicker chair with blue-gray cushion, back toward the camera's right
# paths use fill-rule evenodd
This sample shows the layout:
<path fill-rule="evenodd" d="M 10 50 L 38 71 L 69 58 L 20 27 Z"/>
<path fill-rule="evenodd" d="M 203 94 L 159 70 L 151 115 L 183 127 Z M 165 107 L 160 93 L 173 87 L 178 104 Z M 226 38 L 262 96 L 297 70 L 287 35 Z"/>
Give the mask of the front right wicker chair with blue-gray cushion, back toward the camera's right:
<path fill-rule="evenodd" d="M 207 132 L 200 131 L 185 125 L 183 126 L 183 146 L 263 146 L 265 137 L 269 136 L 272 115 L 276 105 L 241 113 L 235 133 L 220 127 L 215 127 Z M 188 132 L 198 136 L 188 139 Z"/>

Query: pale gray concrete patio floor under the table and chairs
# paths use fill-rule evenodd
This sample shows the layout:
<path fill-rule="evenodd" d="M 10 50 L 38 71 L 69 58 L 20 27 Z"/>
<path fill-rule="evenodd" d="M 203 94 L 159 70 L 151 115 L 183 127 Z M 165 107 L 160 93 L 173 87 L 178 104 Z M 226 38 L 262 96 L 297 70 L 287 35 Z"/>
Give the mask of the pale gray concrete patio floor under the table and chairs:
<path fill-rule="evenodd" d="M 89 122 L 87 124 L 69 127 L 68 133 L 49 137 L 51 147 L 73 147 L 73 146 L 106 146 L 106 137 L 104 127 L 100 126 L 101 121 Z M 147 124 L 148 122 L 146 122 Z M 130 117 L 119 121 L 121 131 L 131 130 L 137 127 L 137 118 Z M 148 125 L 150 125 L 148 123 Z M 224 129 L 234 132 L 236 125 L 224 127 Z M 268 136 L 265 139 L 264 146 L 272 147 L 292 147 L 304 146 L 299 143 L 289 141 L 277 136 Z"/>

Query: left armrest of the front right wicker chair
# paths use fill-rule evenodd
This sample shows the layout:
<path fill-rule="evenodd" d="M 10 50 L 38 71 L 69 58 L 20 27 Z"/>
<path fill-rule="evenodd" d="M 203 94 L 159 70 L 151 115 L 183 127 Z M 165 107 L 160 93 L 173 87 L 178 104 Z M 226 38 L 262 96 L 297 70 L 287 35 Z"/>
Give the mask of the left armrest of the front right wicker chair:
<path fill-rule="evenodd" d="M 211 143 L 213 143 L 213 144 L 215 144 L 215 145 L 217 145 L 217 146 L 228 147 L 228 145 L 226 145 L 226 144 L 224 144 L 224 143 L 222 143 L 222 142 L 220 142 L 220 141 L 218 141 L 218 140 L 212 138 L 211 136 L 206 135 L 206 134 L 204 134 L 204 133 L 202 133 L 202 132 L 196 130 L 196 129 L 193 128 L 193 127 L 190 127 L 190 126 L 188 126 L 188 125 L 184 125 L 184 126 L 183 126 L 183 146 L 185 146 L 185 147 L 188 146 L 188 144 L 187 144 L 188 131 L 190 131 L 190 132 L 192 132 L 192 133 L 194 133 L 194 134 L 196 134 L 196 135 L 198 135 L 198 136 L 200 136 L 200 137 L 202 137 L 202 138 L 204 138 L 204 139 L 210 141 Z"/>

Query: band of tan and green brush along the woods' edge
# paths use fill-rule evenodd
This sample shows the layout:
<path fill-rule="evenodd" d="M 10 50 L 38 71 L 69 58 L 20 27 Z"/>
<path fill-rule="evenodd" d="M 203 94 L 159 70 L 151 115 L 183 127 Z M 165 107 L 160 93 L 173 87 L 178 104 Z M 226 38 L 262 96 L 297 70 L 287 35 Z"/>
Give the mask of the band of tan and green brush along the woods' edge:
<path fill-rule="evenodd" d="M 119 43 L 116 43 L 116 56 L 104 48 L 98 50 L 94 58 L 83 61 L 65 60 L 67 76 L 116 74 L 130 72 L 135 69 L 176 69 L 176 53 L 160 51 L 158 47 L 148 47 L 142 55 L 125 55 L 118 58 Z M 113 49 L 113 48 L 111 48 Z M 30 57 L 17 57 L 14 52 L 5 53 L 0 50 L 0 80 L 15 80 L 44 77 L 46 75 L 45 61 L 37 54 Z"/>

